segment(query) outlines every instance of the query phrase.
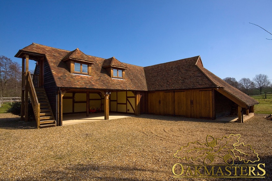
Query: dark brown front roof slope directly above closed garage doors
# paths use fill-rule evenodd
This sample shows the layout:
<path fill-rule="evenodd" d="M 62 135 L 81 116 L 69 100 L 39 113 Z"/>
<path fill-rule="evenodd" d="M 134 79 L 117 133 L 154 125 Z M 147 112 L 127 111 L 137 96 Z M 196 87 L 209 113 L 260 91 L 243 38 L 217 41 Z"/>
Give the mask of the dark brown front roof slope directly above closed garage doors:
<path fill-rule="evenodd" d="M 198 66 L 200 56 L 145 67 L 149 91 L 215 87 Z"/>

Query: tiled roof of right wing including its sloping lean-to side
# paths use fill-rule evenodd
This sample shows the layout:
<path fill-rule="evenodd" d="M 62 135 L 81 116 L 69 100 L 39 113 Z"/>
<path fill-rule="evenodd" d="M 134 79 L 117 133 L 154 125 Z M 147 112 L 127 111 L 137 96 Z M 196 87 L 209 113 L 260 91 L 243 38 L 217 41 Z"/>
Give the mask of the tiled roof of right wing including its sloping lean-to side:
<path fill-rule="evenodd" d="M 247 106 L 258 102 L 203 67 L 200 56 L 145 67 L 148 91 L 223 88 Z"/>

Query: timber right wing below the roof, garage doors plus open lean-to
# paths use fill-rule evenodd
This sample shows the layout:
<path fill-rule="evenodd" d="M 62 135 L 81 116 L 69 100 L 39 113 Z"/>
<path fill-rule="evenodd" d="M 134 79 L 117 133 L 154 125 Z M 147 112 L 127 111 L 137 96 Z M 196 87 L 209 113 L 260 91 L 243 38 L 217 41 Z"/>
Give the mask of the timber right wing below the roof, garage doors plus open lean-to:
<path fill-rule="evenodd" d="M 238 122 L 242 122 L 242 114 L 254 113 L 254 105 L 247 107 L 218 88 L 149 91 L 147 94 L 148 114 L 215 120 L 236 112 Z M 224 109 L 222 114 L 220 109 Z"/>

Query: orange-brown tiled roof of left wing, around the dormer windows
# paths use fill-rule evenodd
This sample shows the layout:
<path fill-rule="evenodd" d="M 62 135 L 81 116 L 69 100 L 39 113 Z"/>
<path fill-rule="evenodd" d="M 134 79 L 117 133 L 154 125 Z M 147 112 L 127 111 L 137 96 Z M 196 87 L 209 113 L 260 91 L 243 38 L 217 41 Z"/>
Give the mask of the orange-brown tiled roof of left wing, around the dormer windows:
<path fill-rule="evenodd" d="M 72 52 L 75 53 L 75 51 Z M 140 66 L 122 63 L 128 68 L 125 70 L 125 80 L 113 79 L 102 68 L 104 58 L 86 55 L 83 57 L 84 60 L 95 62 L 95 64 L 91 65 L 92 76 L 84 76 L 70 74 L 66 62 L 62 61 L 64 57 L 73 56 L 71 55 L 73 53 L 70 54 L 70 51 L 32 43 L 19 50 L 15 57 L 21 57 L 20 54 L 24 52 L 46 56 L 57 87 L 147 91 L 144 69 Z"/>

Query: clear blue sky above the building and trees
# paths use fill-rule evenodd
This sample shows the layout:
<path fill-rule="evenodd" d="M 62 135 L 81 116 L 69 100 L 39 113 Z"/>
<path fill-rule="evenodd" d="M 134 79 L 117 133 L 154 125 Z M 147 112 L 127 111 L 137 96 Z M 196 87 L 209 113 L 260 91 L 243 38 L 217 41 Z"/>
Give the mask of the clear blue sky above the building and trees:
<path fill-rule="evenodd" d="M 1 1 L 0 55 L 32 42 L 148 66 L 200 55 L 220 78 L 272 79 L 272 1 Z M 30 69 L 34 69 L 31 61 Z"/>

